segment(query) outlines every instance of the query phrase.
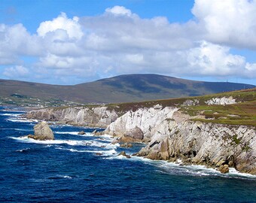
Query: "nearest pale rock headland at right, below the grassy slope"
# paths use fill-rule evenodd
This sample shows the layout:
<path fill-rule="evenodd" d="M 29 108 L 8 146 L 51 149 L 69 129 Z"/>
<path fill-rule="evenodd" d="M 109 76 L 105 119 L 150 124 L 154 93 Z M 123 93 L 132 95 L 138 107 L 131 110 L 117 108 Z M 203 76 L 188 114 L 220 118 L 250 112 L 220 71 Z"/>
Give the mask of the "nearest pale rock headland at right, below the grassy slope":
<path fill-rule="evenodd" d="M 138 156 L 190 164 L 222 165 L 256 174 L 256 135 L 254 127 L 214 123 L 166 121 L 162 136 L 154 136 Z M 160 130 L 160 129 L 159 129 Z M 221 171 L 221 170 L 220 170 Z"/>

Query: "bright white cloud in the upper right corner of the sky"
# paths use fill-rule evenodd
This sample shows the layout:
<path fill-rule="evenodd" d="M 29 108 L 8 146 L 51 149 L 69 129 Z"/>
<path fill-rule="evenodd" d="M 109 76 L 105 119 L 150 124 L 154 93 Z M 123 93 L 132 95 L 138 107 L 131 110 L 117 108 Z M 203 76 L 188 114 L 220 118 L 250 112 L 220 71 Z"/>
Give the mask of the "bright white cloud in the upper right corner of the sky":
<path fill-rule="evenodd" d="M 196 0 L 192 12 L 208 40 L 256 49 L 255 0 Z"/>

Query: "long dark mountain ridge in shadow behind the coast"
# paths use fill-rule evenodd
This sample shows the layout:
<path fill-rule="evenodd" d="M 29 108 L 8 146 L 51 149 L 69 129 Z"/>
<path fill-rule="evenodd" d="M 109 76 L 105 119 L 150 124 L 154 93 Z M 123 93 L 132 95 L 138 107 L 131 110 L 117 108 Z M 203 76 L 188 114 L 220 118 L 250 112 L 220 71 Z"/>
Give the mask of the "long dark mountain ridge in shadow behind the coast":
<path fill-rule="evenodd" d="M 126 74 L 90 83 L 61 86 L 17 80 L 0 80 L 2 104 L 26 103 L 59 105 L 118 103 L 206 95 L 254 88 L 243 83 L 216 83 L 184 80 L 157 74 Z"/>

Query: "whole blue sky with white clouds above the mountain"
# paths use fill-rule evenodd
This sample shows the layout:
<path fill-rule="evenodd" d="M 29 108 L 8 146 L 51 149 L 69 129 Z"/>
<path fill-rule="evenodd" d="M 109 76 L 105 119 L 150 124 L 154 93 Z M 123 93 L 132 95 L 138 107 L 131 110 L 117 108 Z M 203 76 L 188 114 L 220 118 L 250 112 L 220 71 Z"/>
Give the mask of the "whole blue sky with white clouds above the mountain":
<path fill-rule="evenodd" d="M 0 1 L 0 78 L 120 74 L 256 85 L 256 0 Z"/>

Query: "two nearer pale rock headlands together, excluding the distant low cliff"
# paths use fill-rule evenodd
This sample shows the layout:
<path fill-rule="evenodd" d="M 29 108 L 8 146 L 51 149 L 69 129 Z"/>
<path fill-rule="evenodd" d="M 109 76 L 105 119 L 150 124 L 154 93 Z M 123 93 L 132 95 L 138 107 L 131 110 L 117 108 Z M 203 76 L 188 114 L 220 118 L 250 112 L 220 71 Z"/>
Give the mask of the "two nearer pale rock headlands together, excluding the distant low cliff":
<path fill-rule="evenodd" d="M 222 172 L 235 167 L 238 171 L 256 174 L 253 126 L 193 121 L 178 108 L 143 108 L 117 118 L 105 133 L 122 141 L 122 138 L 135 138 L 140 131 L 142 141 L 149 143 L 137 156 L 172 162 L 181 159 L 184 163 L 208 165 Z"/>

